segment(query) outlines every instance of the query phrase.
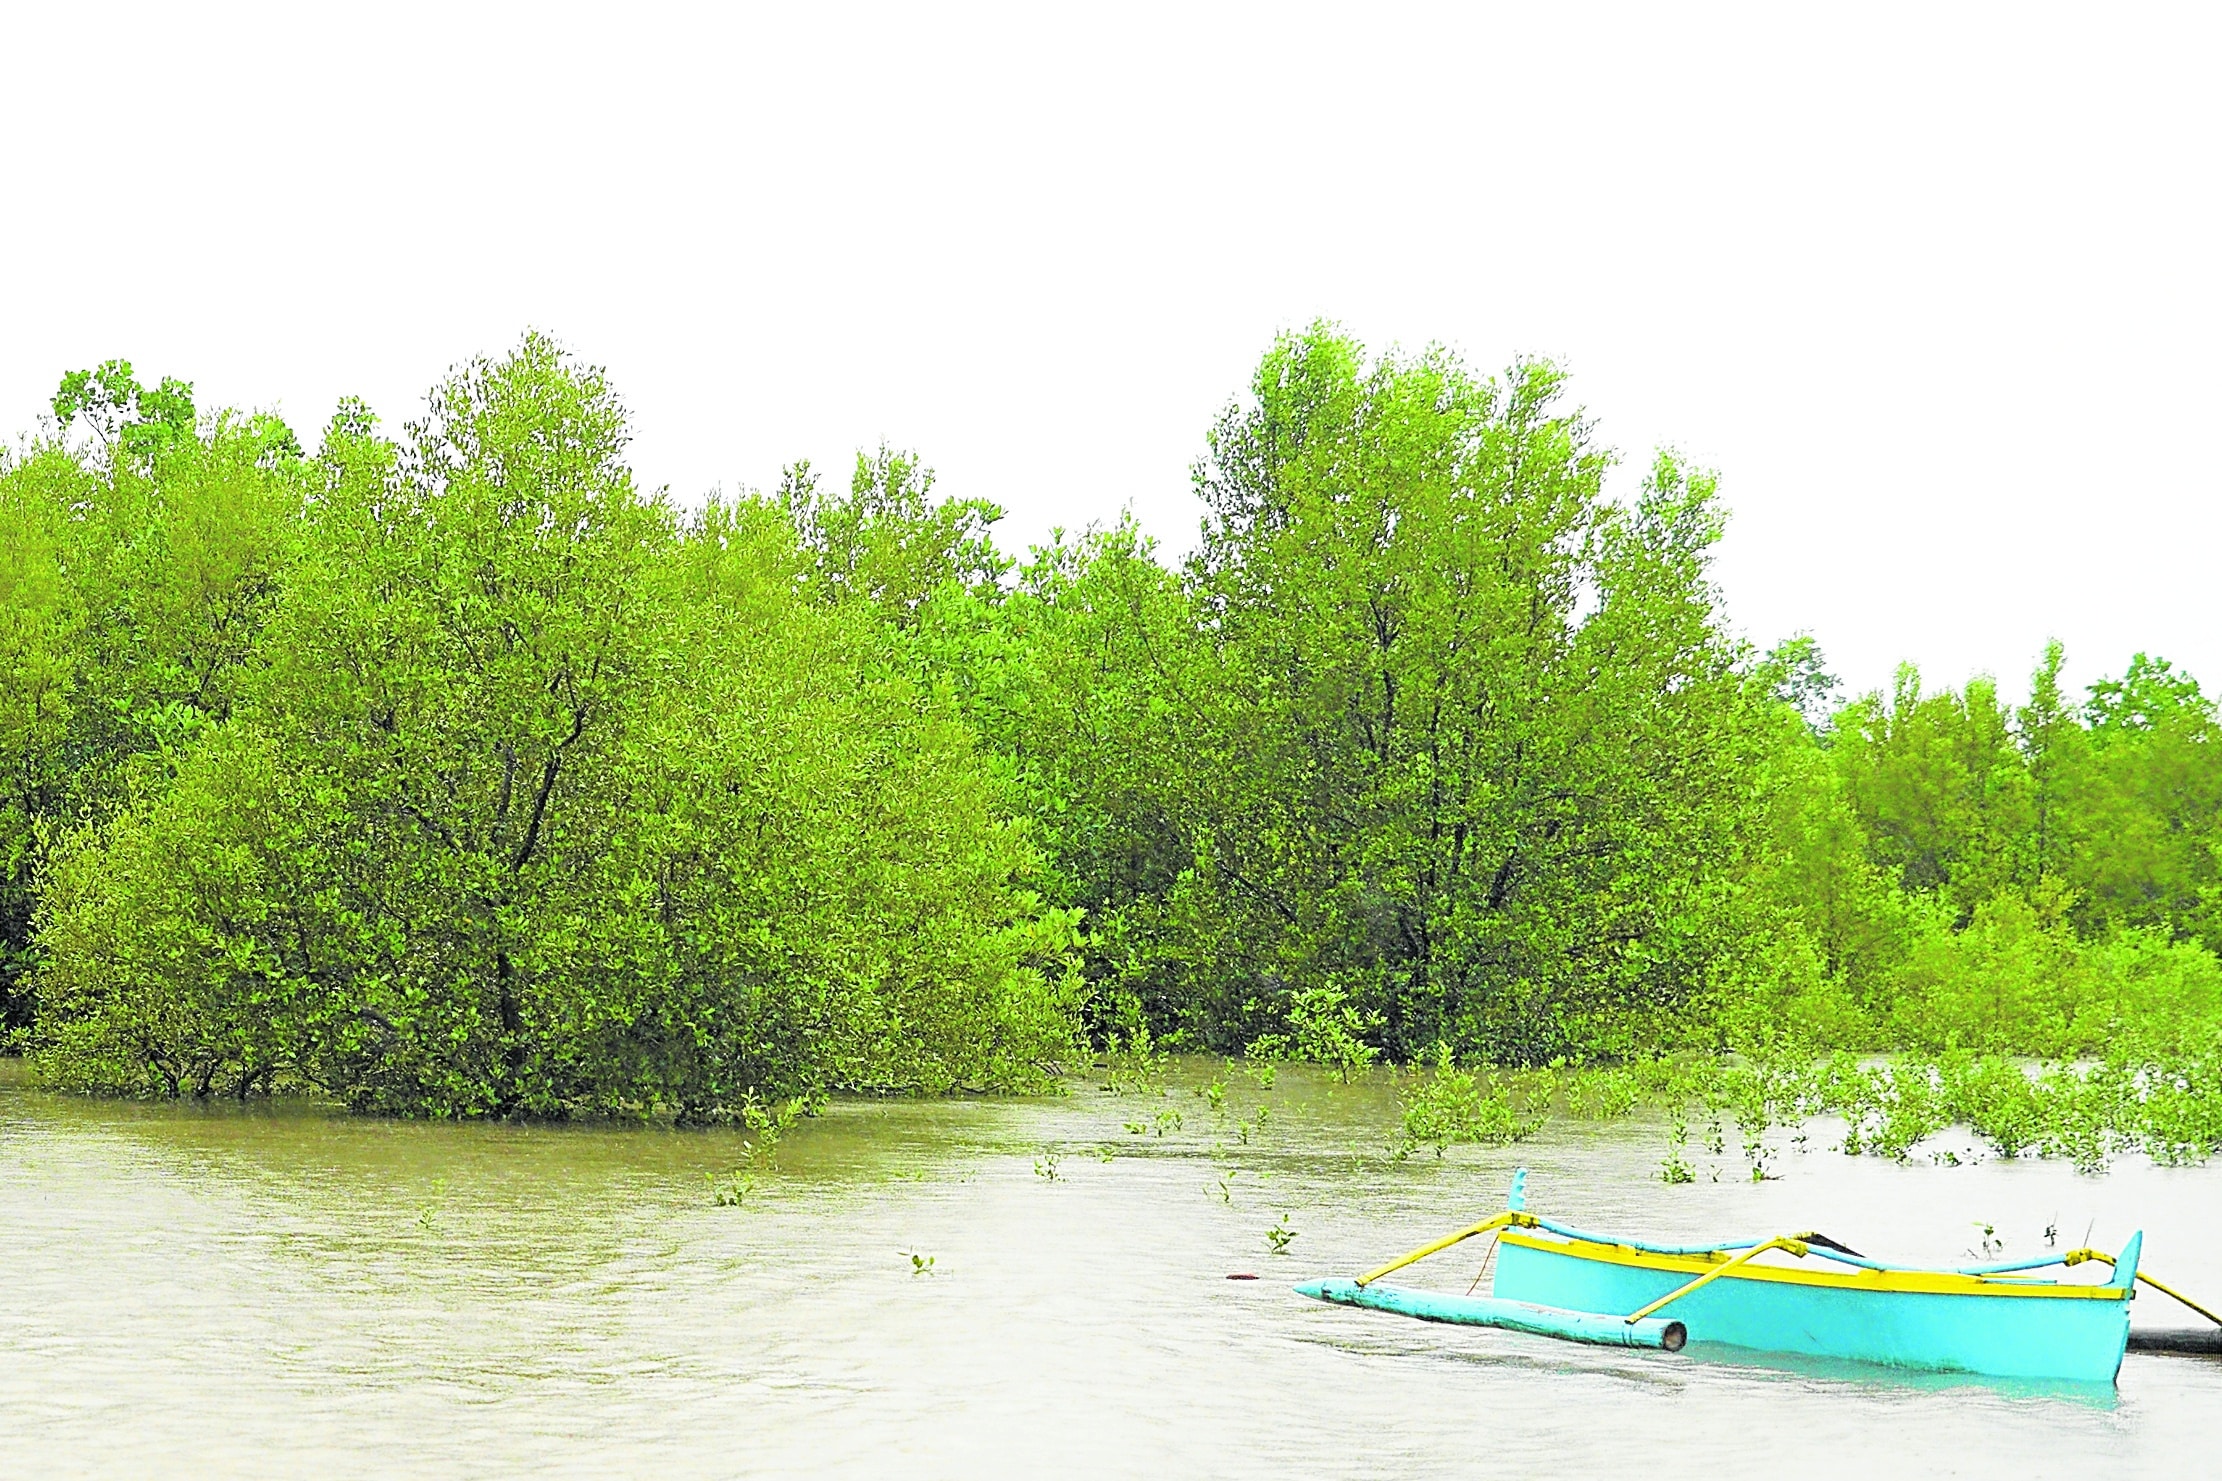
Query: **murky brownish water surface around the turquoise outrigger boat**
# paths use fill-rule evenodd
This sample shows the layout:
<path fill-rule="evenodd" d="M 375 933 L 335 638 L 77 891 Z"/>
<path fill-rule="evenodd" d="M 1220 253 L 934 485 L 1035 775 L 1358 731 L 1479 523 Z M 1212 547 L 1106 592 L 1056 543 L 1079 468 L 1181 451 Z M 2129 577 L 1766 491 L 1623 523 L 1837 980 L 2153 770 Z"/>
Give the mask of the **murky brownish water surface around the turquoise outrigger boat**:
<path fill-rule="evenodd" d="M 116 1106 L 11 1070 L 7 1474 L 1780 1481 L 2182 1477 L 2222 1454 L 2213 1359 L 2131 1352 L 2115 1390 L 2046 1390 L 1578 1348 L 1289 1294 L 1500 1208 L 1527 1163 L 1533 1208 L 1669 1237 L 1818 1226 L 1958 1261 L 1982 1221 L 2009 1255 L 2042 1250 L 2046 1223 L 2102 1248 L 2142 1226 L 2153 1272 L 2215 1297 L 2222 1166 L 2093 1179 L 1784 1150 L 1780 1181 L 1724 1161 L 1724 1181 L 1666 1188 L 1655 1124 L 1395 1163 L 1382 1086 L 1284 1070 L 1271 1092 L 1235 1077 L 1224 1112 L 1193 1081 L 835 1104 L 718 1208 L 704 1175 L 740 1157 L 724 1135 Z M 1242 1144 L 1258 1104 L 1271 1117 Z M 1295 1239 L 1275 1257 L 1282 1219 Z M 1422 1270 L 1462 1290 L 1478 1261 Z M 2135 1317 L 2184 1326 L 2164 1306 L 2146 1294 Z"/>

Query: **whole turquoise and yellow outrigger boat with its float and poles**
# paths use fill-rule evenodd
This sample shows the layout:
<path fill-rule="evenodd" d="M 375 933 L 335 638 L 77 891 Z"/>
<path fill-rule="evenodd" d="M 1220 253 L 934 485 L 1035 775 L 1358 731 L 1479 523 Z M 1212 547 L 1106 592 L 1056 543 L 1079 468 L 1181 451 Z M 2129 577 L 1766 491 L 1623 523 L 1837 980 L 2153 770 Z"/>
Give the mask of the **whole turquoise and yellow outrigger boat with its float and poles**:
<path fill-rule="evenodd" d="M 1498 1237 L 1489 1297 L 1380 1283 L 1475 1235 Z M 1311 1281 L 1295 1292 L 1427 1321 L 1615 1348 L 1680 1352 L 1684 1343 L 1702 1341 L 1891 1368 L 2111 1383 L 2129 1343 L 2129 1301 L 2138 1281 L 2222 1328 L 2222 1317 L 2138 1268 L 2142 1246 L 2140 1232 L 2118 1255 L 2066 1250 L 2044 1259 L 1922 1270 L 1866 1259 L 1813 1230 L 1700 1246 L 1651 1243 L 1527 1212 L 1522 1168 L 1513 1175 L 1507 1210 L 1493 1219 L 1420 1246 L 1355 1281 Z M 1775 1259 L 1760 1263 L 1762 1257 Z M 1809 1257 L 1831 1268 L 1806 1268 Z M 2109 1279 L 2031 1275 L 2089 1261 L 2111 1266 Z"/>

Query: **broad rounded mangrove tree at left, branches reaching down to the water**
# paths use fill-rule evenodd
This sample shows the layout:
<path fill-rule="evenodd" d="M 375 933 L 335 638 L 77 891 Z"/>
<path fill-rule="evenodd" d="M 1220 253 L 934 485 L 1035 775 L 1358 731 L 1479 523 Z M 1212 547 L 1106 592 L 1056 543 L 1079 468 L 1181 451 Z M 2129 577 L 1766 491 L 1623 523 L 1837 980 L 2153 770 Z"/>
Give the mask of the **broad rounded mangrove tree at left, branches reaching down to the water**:
<path fill-rule="evenodd" d="M 53 864 L 49 1079 L 769 1146 L 771 1097 L 1069 1052 L 1073 913 L 969 733 L 778 508 L 682 524 L 622 444 L 538 337 L 400 442 L 340 411 L 256 664 Z"/>

